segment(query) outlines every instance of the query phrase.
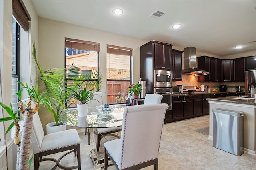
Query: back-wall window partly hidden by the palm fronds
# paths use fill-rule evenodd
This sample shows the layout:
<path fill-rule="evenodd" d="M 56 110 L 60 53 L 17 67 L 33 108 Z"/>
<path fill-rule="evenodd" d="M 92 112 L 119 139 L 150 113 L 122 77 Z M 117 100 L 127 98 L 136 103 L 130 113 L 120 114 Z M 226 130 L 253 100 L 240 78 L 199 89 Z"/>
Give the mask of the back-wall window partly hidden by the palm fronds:
<path fill-rule="evenodd" d="M 99 70 L 100 43 L 65 38 L 66 68 L 79 66 L 78 76 L 95 75 Z M 68 83 L 68 82 L 67 82 Z M 86 84 L 88 88 L 92 84 Z M 90 87 L 89 87 L 90 86 Z M 99 87 L 96 90 L 100 90 Z M 76 106 L 72 104 L 71 106 Z"/>

